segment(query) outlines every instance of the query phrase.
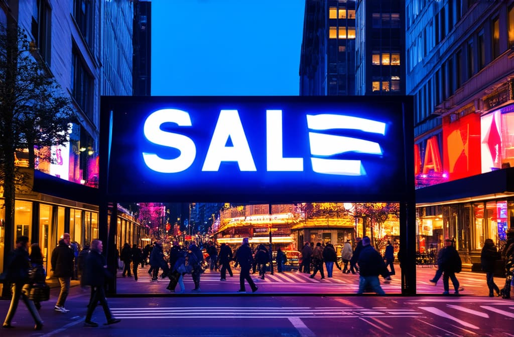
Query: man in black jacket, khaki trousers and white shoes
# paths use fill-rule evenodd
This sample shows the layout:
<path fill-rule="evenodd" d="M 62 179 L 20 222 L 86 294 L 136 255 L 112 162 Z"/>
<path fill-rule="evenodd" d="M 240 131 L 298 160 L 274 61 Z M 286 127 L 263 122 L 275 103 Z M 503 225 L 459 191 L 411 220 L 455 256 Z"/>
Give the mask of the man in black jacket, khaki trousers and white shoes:
<path fill-rule="evenodd" d="M 53 250 L 51 256 L 53 275 L 59 279 L 59 284 L 61 285 L 59 298 L 53 308 L 54 311 L 58 312 L 69 312 L 69 310 L 64 307 L 64 303 L 66 302 L 66 298 L 69 293 L 69 285 L 71 276 L 73 276 L 74 268 L 73 260 L 75 258 L 69 242 L 69 234 L 64 233 L 61 240 L 59 240 L 59 246 Z"/>

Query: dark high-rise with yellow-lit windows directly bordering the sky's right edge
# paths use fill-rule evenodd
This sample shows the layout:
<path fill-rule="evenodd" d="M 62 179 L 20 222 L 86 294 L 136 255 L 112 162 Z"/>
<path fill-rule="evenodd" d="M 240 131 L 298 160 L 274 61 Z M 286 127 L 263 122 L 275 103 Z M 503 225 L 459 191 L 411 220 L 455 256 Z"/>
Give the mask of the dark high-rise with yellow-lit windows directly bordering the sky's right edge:
<path fill-rule="evenodd" d="M 355 95 L 355 1 L 305 2 L 300 96 Z"/>

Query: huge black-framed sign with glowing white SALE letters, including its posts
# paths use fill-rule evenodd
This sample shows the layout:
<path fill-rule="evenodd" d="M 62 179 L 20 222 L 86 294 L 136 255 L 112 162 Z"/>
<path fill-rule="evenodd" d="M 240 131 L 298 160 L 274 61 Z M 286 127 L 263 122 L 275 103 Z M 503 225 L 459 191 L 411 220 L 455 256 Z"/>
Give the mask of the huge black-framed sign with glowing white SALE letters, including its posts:
<path fill-rule="evenodd" d="M 102 97 L 109 268 L 118 202 L 397 202 L 401 293 L 415 294 L 412 114 L 403 96 Z"/>

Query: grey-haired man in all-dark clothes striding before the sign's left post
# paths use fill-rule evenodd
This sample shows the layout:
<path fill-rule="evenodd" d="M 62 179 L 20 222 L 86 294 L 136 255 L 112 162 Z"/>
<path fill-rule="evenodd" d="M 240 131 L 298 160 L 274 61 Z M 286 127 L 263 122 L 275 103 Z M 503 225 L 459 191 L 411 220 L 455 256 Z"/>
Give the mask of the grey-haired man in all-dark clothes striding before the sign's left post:
<path fill-rule="evenodd" d="M 103 308 L 107 324 L 114 324 L 121 321 L 113 316 L 107 304 L 107 299 L 105 299 L 104 284 L 106 279 L 113 278 L 113 275 L 107 270 L 107 261 L 105 256 L 102 255 L 102 251 L 102 241 L 98 239 L 91 241 L 91 251 L 86 257 L 85 264 L 85 284 L 91 286 L 91 299 L 87 306 L 86 319 L 84 321 L 86 326 L 98 326 L 98 323 L 91 321 L 91 316 L 93 316 L 98 302 L 100 302 Z"/>

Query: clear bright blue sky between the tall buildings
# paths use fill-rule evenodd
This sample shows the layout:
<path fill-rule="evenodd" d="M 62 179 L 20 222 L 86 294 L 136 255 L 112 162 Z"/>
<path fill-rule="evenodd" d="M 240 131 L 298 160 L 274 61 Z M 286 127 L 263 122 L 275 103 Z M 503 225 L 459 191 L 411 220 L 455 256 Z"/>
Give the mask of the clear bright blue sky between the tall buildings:
<path fill-rule="evenodd" d="M 298 95 L 305 0 L 153 0 L 152 95 Z"/>

